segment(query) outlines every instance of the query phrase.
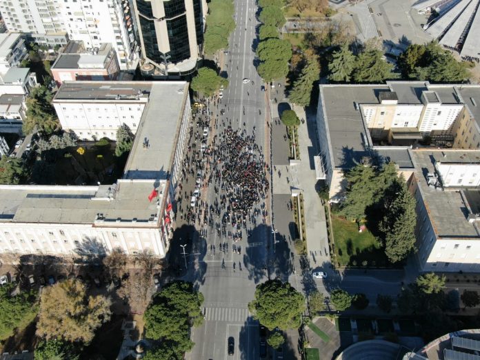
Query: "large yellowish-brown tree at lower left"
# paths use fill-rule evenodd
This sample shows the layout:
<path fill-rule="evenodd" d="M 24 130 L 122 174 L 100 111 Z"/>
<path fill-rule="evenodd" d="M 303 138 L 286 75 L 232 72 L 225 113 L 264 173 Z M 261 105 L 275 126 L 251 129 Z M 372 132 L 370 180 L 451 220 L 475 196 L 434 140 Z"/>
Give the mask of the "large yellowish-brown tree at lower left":
<path fill-rule="evenodd" d="M 59 281 L 43 288 L 37 335 L 47 340 L 88 344 L 110 314 L 110 299 L 102 295 L 88 297 L 85 285 L 76 279 Z"/>

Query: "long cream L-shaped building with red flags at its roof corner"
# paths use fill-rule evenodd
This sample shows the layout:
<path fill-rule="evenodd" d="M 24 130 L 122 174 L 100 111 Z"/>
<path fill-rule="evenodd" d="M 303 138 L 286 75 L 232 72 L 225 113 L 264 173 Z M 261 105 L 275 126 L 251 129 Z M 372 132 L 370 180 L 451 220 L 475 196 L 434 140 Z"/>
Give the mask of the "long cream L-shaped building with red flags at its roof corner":
<path fill-rule="evenodd" d="M 164 257 L 191 120 L 188 83 L 67 82 L 62 97 L 70 84 L 77 101 L 105 86 L 112 99 L 139 90 L 147 99 L 123 175 L 112 185 L 0 186 L 0 252 L 97 256 L 120 248 Z"/>

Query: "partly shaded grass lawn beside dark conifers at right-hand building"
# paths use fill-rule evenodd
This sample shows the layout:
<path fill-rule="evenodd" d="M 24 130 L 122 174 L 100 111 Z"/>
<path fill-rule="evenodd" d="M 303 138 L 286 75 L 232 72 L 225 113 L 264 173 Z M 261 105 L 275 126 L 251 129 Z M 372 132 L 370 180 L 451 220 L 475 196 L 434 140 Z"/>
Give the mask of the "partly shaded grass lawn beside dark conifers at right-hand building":
<path fill-rule="evenodd" d="M 332 214 L 335 254 L 340 266 L 388 266 L 385 252 L 368 230 L 359 232 L 357 223 Z"/>

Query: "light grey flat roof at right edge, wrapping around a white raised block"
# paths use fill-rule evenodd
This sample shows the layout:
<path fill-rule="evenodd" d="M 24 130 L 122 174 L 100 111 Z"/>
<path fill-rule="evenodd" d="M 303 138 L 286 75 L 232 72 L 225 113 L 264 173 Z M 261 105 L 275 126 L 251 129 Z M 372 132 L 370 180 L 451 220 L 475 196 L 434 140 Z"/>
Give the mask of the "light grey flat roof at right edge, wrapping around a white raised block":
<path fill-rule="evenodd" d="M 466 153 L 469 154 L 469 157 L 474 158 L 480 157 L 480 151 L 418 149 L 412 150 L 410 153 L 415 166 L 414 174 L 437 235 L 444 238 L 479 237 L 472 224 L 468 222 L 468 214 L 465 211 L 466 204 L 458 189 L 442 191 L 430 188 L 426 174 L 434 172 L 434 163 L 437 159 L 443 159 L 443 154 L 447 154 L 448 159 L 460 159 Z"/>

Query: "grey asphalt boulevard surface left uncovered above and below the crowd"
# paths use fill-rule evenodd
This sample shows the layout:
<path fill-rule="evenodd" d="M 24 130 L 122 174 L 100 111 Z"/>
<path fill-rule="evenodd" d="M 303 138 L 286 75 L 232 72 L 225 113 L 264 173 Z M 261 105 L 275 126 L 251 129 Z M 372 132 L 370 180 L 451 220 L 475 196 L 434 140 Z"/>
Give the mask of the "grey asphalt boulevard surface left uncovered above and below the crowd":
<path fill-rule="evenodd" d="M 230 37 L 229 52 L 223 54 L 221 64 L 230 84 L 223 91 L 223 98 L 217 99 L 217 104 L 210 102 L 212 119 L 218 117 L 218 128 L 211 126 L 210 139 L 215 134 L 221 134 L 222 121 L 226 122 L 225 126 L 231 121 L 233 130 L 245 129 L 248 135 L 255 128 L 255 140 L 264 150 L 266 97 L 261 91 L 263 83 L 254 66 L 253 50 L 257 41 L 257 6 L 254 0 L 237 0 L 234 6 L 237 28 Z M 250 82 L 243 83 L 245 78 Z M 220 110 L 224 111 L 222 116 Z M 203 188 L 201 199 L 211 204 L 218 196 L 211 184 Z M 259 199 L 257 208 L 262 201 Z M 257 226 L 248 224 L 252 236 L 247 237 L 246 230 L 242 230 L 243 239 L 237 242 L 217 234 L 210 226 L 198 229 L 203 235 L 198 241 L 201 248 L 194 251 L 204 255 L 192 263 L 186 279 L 194 281 L 205 297 L 205 322 L 192 330 L 196 346 L 186 354 L 187 359 L 259 359 L 259 328 L 248 312 L 248 303 L 254 297 L 257 283 L 267 278 L 266 270 L 263 270 L 263 264 L 267 263 L 267 229 L 259 217 Z M 231 230 L 231 225 L 226 230 Z M 228 252 L 219 251 L 219 243 L 225 242 L 228 243 Z M 241 246 L 241 254 L 232 252 L 233 245 Z M 215 246 L 215 252 L 212 246 Z M 228 337 L 235 340 L 233 356 L 227 352 Z"/>

